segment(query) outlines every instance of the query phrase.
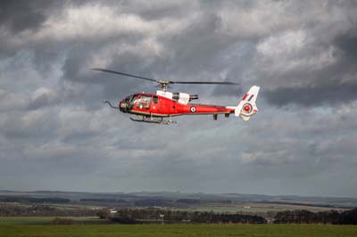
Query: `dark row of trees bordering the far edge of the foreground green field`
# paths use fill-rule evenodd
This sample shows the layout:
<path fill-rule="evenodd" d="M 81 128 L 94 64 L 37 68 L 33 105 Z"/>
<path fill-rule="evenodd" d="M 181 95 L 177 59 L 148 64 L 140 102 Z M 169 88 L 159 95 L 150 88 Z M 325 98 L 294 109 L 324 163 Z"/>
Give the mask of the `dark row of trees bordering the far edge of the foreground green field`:
<path fill-rule="evenodd" d="M 266 224 L 267 219 L 256 215 L 214 213 L 207 211 L 183 211 L 162 208 L 120 208 L 115 215 L 108 210 L 97 213 L 99 217 L 123 224 L 160 222 L 164 215 L 166 223 L 239 223 Z M 308 210 L 280 211 L 273 224 L 332 224 L 357 225 L 357 208 L 345 212 L 336 210 L 311 212 Z"/>

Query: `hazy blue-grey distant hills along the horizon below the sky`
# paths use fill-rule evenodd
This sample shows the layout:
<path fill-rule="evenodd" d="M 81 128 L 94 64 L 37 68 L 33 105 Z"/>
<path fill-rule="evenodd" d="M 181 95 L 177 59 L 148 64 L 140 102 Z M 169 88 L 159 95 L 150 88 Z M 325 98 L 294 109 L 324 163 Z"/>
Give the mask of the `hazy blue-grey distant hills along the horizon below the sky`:
<path fill-rule="evenodd" d="M 260 195 L 242 193 L 203 193 L 203 192 L 63 192 L 33 191 L 19 192 L 0 190 L 0 201 L 6 199 L 27 199 L 54 202 L 97 202 L 139 206 L 155 205 L 200 205 L 213 203 L 262 203 L 271 205 L 292 205 L 325 208 L 357 208 L 357 198 L 343 197 L 303 197 L 295 195 Z"/>

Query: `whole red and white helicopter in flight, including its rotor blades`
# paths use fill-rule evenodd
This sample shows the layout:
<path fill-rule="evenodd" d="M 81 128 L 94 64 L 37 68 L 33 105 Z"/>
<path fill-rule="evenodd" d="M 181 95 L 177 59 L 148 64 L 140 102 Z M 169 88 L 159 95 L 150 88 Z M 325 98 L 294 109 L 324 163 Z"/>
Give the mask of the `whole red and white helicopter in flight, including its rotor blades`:
<path fill-rule="evenodd" d="M 129 78 L 138 78 L 146 81 L 158 83 L 161 86 L 156 94 L 137 93 L 131 94 L 120 100 L 118 106 L 112 105 L 109 101 L 104 101 L 112 109 L 120 110 L 123 113 L 132 114 L 130 117 L 135 122 L 156 123 L 156 124 L 174 124 L 177 121 L 172 120 L 172 117 L 182 115 L 212 115 L 214 120 L 217 120 L 218 115 L 222 114 L 226 118 L 234 113 L 236 117 L 248 121 L 254 114 L 258 112 L 255 104 L 259 93 L 259 86 L 252 86 L 249 91 L 238 102 L 237 106 L 221 106 L 208 105 L 199 103 L 190 103 L 193 100 L 198 100 L 197 94 L 187 93 L 171 93 L 168 86 L 173 84 L 189 84 L 189 85 L 239 85 L 234 82 L 224 81 L 172 81 L 168 79 L 153 79 L 145 78 L 129 73 L 124 73 L 112 69 L 92 69 L 101 72 L 107 72 L 125 76 Z"/>

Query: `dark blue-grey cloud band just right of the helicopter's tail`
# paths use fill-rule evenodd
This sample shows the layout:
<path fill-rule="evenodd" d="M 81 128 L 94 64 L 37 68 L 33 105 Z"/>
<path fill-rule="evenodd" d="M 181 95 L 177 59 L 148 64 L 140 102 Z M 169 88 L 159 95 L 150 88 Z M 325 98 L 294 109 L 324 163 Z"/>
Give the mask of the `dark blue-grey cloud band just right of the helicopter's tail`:
<path fill-rule="evenodd" d="M 286 77 L 303 77 L 310 85 L 278 87 L 264 92 L 268 102 L 283 106 L 298 104 L 301 106 L 340 106 L 345 102 L 357 99 L 357 61 L 343 60 L 330 69 L 300 73 L 300 75 L 285 75 Z"/>

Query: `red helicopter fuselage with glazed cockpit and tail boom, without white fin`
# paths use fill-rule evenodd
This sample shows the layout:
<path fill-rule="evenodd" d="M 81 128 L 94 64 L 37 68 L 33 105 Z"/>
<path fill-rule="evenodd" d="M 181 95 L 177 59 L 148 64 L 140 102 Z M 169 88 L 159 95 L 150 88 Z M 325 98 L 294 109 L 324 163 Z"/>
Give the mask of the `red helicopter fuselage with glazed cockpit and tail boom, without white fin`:
<path fill-rule="evenodd" d="M 150 116 L 171 117 L 179 115 L 225 114 L 227 117 L 234 109 L 225 106 L 181 103 L 158 94 L 132 94 L 119 102 L 119 109 L 124 113 Z"/>

